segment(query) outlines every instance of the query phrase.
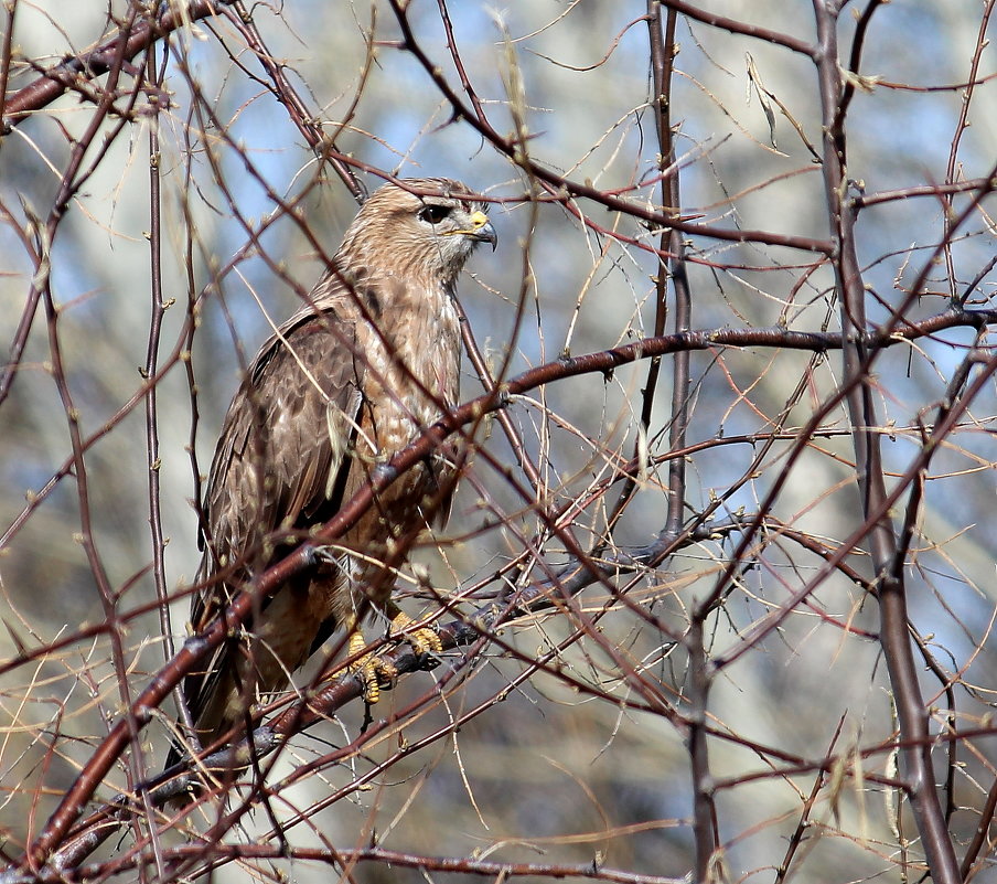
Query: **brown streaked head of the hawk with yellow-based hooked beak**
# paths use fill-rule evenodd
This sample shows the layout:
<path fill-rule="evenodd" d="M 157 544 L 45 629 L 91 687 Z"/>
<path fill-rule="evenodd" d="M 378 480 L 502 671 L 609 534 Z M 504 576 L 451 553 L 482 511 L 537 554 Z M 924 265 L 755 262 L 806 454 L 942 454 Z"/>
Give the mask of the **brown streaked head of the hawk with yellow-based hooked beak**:
<path fill-rule="evenodd" d="M 399 275 L 430 274 L 455 280 L 479 243 L 499 242 L 487 204 L 448 178 L 410 178 L 375 191 L 357 213 L 341 257 Z"/>

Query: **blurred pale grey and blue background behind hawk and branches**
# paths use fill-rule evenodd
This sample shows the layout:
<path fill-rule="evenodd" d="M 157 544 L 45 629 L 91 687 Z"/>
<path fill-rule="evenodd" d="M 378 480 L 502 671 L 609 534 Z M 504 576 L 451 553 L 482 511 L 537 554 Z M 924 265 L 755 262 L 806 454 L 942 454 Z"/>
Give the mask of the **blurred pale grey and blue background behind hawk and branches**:
<path fill-rule="evenodd" d="M 802 41 L 815 39 L 812 4 L 802 0 L 699 6 Z M 853 81 L 848 109 L 850 196 L 991 173 L 997 60 L 980 36 L 987 36 L 991 6 L 894 0 L 875 11 L 865 77 Z M 535 0 L 500 9 L 412 2 L 405 15 L 418 45 L 467 100 L 441 8 L 449 10 L 453 46 L 494 129 L 508 137 L 523 125 L 534 161 L 636 205 L 661 205 L 644 3 Z M 36 0 L 11 9 L 2 25 L 12 35 L 8 94 L 39 70 L 107 39 L 130 7 L 117 0 Z M 847 4 L 843 11 L 843 63 L 866 9 Z M 364 169 L 458 178 L 496 200 L 491 214 L 499 251 L 475 255 L 460 286 L 471 328 L 495 372 L 504 369 L 511 376 L 564 353 L 600 351 L 653 333 L 660 234 L 594 201 L 566 206 L 524 200 L 530 192 L 526 175 L 467 121 L 454 119 L 405 45 L 390 3 L 301 0 L 254 6 L 251 13 L 325 134 L 363 163 L 357 175 L 369 189 L 379 179 Z M 725 230 L 828 239 L 821 100 L 811 58 L 683 15 L 675 40 L 671 99 L 683 217 Z M 163 47 L 158 44 L 157 67 Z M 129 104 L 133 74 L 122 74 L 118 108 Z M 0 670 L 0 834 L 9 856 L 37 831 L 117 721 L 122 663 L 136 692 L 168 656 L 156 593 L 142 376 L 151 279 L 161 278 L 169 303 L 158 348 L 153 471 L 165 543 L 161 573 L 174 597 L 170 629 L 182 639 L 184 590 L 200 560 L 197 473 L 210 466 L 240 371 L 271 323 L 289 316 L 319 278 L 356 211 L 269 84 L 231 20 L 203 19 L 170 38 L 168 110 L 157 115 L 148 96 L 140 96 L 128 114 L 109 115 L 92 136 L 94 105 L 71 92 L 0 142 L 4 352 L 26 321 L 40 273 L 32 252 L 39 248 L 46 254 L 42 270 L 57 307 L 51 318 L 44 305 L 34 311 L 0 402 L 0 660 L 34 652 L 30 662 Z M 158 196 L 150 184 L 153 128 Z M 39 231 L 85 137 L 92 140 L 76 173 L 81 184 L 57 235 L 44 242 Z M 953 299 L 993 307 L 993 198 L 980 200 L 951 236 L 947 226 L 977 190 L 967 187 L 951 205 L 936 194 L 908 193 L 861 210 L 857 237 L 871 323 L 901 303 L 911 322 L 944 312 Z M 151 258 L 152 205 L 162 214 L 161 267 Z M 833 267 L 822 255 L 778 242 L 699 235 L 686 241 L 693 328 L 839 328 Z M 944 241 L 948 247 L 936 254 Z M 925 267 L 925 281 L 908 303 Z M 878 355 L 873 376 L 888 484 L 920 452 L 954 372 L 976 341 L 974 329 L 955 328 Z M 542 486 L 519 492 L 530 483 L 497 427 L 480 438 L 494 462 L 474 460 L 449 528 L 417 555 L 433 585 L 499 592 L 503 586 L 492 575 L 525 554 L 526 539 L 557 567 L 566 554 L 544 512 L 577 503 L 571 524 L 588 546 L 604 530 L 622 486 L 615 471 L 637 450 L 648 459 L 613 543 L 626 551 L 652 542 L 667 504 L 666 461 L 655 458 L 668 454 L 669 365 L 665 360 L 644 436 L 639 416 L 646 361 L 612 377 L 582 375 L 516 397 L 508 413 Z M 60 394 L 60 374 L 72 406 Z M 797 435 L 840 374 L 838 352 L 815 356 L 776 345 L 694 353 L 687 443 L 697 448 L 686 457 L 689 518 L 717 500 L 718 523 L 750 516 L 787 470 L 771 514 L 818 546 L 837 548 L 862 522 L 847 416 L 832 408 L 805 447 Z M 463 390 L 465 398 L 482 391 L 470 364 Z M 87 446 L 85 500 L 72 468 L 71 407 Z M 951 807 L 960 855 L 995 779 L 994 415 L 990 383 L 934 455 L 923 477 L 924 503 L 907 571 L 912 636 L 937 665 L 931 671 L 929 658 L 919 658 L 922 693 L 935 711 L 933 729 L 975 734 L 940 739 L 934 752 L 940 782 L 947 780 L 943 805 Z M 600 484 L 610 479 L 612 484 Z M 905 500 L 893 513 L 898 520 Z M 84 536 L 93 539 L 90 556 Z M 371 843 L 376 832 L 379 845 L 414 854 L 596 862 L 637 875 L 685 875 L 693 863 L 690 763 L 686 728 L 669 711 L 688 712 L 680 638 L 690 606 L 712 590 L 738 537 L 725 531 L 687 544 L 661 568 L 620 577 L 612 592 L 589 587 L 577 599 L 582 619 L 548 611 L 507 626 L 502 640 L 510 649 L 492 646 L 465 665 L 446 700 L 354 757 L 281 788 L 277 812 L 294 820 L 286 837 L 296 845 L 345 849 Z M 860 548 L 847 564 L 864 578 L 872 576 Z M 722 842 L 717 880 L 784 880 L 776 870 L 803 818 L 810 828 L 789 877 L 901 880 L 907 862 L 914 863 L 908 874 L 916 876 L 916 830 L 902 795 L 890 786 L 897 777 L 897 723 L 876 640 L 877 605 L 840 572 L 824 574 L 798 597 L 822 565 L 813 546 L 760 533 L 709 621 L 709 654 L 730 659 L 714 681 L 708 707 L 709 723 L 728 735 L 709 743 Z M 546 576 L 540 567 L 530 573 Z M 88 631 L 108 617 L 101 579 L 120 618 L 117 669 L 107 631 Z M 403 604 L 412 615 L 432 608 L 416 598 Z M 753 638 L 752 627 L 780 606 L 789 614 L 779 628 Z M 602 641 L 629 661 L 629 672 L 620 671 Z M 51 652 L 37 653 L 52 645 Z M 532 661 L 558 646 L 550 668 L 536 671 Z M 665 700 L 658 710 L 648 707 L 634 677 L 653 683 L 669 707 Z M 433 678 L 440 670 L 407 679 L 375 716 L 431 692 Z M 450 733 L 479 706 L 480 714 Z M 172 705 L 163 709 L 167 720 L 173 714 Z M 362 714 L 347 710 L 296 737 L 271 780 L 281 782 L 303 761 L 350 743 Z M 438 732 L 442 736 L 418 752 L 399 748 Z M 161 722 L 143 732 L 144 757 L 132 763 L 146 773 L 162 764 L 164 733 Z M 951 746 L 957 747 L 954 757 Z M 804 810 L 828 756 L 837 759 L 839 778 L 824 781 Z M 386 761 L 363 790 L 325 807 L 336 789 Z M 126 788 L 135 770 L 117 769 L 98 797 Z M 272 826 L 257 810 L 226 839 L 264 837 Z M 115 850 L 110 843 L 97 858 Z M 328 880 L 330 873 L 303 861 L 246 861 L 215 875 L 270 880 L 276 870 L 300 882 Z M 416 870 L 378 863 L 352 874 L 364 882 L 424 880 Z M 980 864 L 974 881 L 997 881 L 997 872 Z"/>

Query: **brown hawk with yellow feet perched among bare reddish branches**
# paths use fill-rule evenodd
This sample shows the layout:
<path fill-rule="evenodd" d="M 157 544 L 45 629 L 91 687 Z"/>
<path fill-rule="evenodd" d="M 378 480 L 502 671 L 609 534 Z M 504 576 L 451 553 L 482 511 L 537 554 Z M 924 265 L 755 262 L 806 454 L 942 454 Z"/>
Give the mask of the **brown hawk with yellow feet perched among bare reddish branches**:
<path fill-rule="evenodd" d="M 457 278 L 475 246 L 496 242 L 485 204 L 459 181 L 403 180 L 366 201 L 307 303 L 260 348 L 228 407 L 205 490 L 194 630 L 458 402 Z M 446 519 L 454 480 L 442 452 L 407 471 L 322 564 L 262 601 L 186 678 L 202 744 L 286 688 L 334 630 L 358 636 L 358 617 L 372 607 L 397 613 L 386 560 L 428 519 Z"/>

